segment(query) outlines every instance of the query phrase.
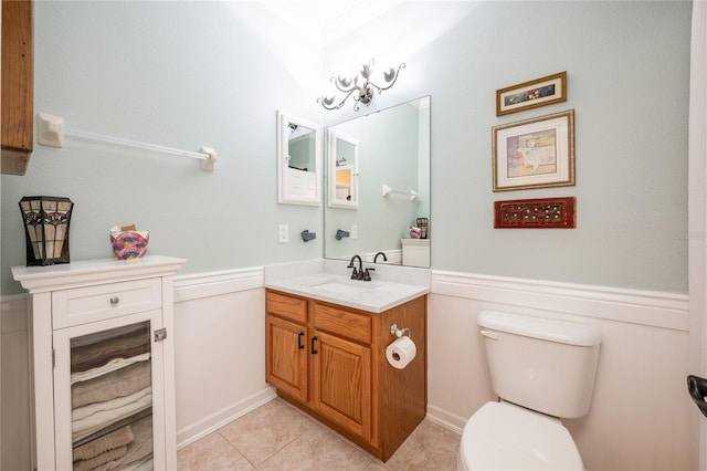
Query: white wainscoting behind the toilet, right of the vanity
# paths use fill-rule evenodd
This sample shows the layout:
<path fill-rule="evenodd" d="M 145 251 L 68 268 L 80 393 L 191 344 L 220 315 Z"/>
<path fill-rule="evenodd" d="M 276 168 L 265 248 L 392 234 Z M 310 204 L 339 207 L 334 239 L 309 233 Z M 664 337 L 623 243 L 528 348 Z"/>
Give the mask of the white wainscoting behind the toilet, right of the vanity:
<path fill-rule="evenodd" d="M 484 310 L 590 324 L 603 342 L 589 414 L 564 421 L 588 469 L 695 469 L 687 395 L 688 297 L 433 271 L 429 418 L 461 431 L 490 389 L 476 318 Z"/>

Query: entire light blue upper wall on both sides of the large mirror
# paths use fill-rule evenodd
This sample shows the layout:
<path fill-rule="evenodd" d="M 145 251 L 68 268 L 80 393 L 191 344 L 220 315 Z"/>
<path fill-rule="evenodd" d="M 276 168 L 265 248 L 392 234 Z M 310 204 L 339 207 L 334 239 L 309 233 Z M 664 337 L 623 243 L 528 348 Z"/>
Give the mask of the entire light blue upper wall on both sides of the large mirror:
<path fill-rule="evenodd" d="M 110 257 L 108 228 L 131 222 L 155 253 L 189 259 L 184 273 L 319 257 L 319 239 L 276 242 L 278 223 L 320 230 L 321 208 L 276 203 L 275 109 L 352 117 L 313 102 L 328 93 L 323 77 L 371 55 L 408 64 L 372 108 L 432 96 L 433 269 L 687 292 L 690 8 L 408 2 L 321 62 L 251 2 L 38 2 L 35 111 L 80 130 L 212 146 L 220 161 L 205 174 L 107 145 L 36 146 L 27 176 L 2 176 L 2 293 L 19 291 L 9 266 L 24 263 L 27 195 L 74 200 L 73 260 Z M 560 71 L 568 102 L 495 116 L 497 88 Z M 494 193 L 492 126 L 564 109 L 576 111 L 577 185 Z M 577 197 L 577 229 L 493 229 L 495 200 L 555 196 Z"/>

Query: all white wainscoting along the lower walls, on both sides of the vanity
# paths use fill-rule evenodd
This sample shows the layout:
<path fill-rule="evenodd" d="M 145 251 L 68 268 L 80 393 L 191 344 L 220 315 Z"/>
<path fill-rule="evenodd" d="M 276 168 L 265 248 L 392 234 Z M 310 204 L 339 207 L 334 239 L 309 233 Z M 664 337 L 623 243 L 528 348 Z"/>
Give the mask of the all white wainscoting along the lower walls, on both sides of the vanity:
<path fill-rule="evenodd" d="M 265 383 L 264 297 L 262 268 L 175 279 L 179 447 L 274 397 Z M 27 297 L 4 296 L 1 303 L 2 469 L 23 470 L 29 468 Z M 695 469 L 688 417 L 698 412 L 685 387 L 686 295 L 433 271 L 428 417 L 456 431 L 495 400 L 476 326 L 487 308 L 600 329 L 591 410 L 566 422 L 588 469 Z"/>

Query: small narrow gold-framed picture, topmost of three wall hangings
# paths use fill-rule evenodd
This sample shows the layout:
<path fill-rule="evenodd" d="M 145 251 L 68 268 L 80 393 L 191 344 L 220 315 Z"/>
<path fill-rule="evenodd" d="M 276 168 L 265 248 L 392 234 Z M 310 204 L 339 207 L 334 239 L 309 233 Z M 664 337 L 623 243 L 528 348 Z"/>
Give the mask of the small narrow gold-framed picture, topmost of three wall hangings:
<path fill-rule="evenodd" d="M 496 116 L 567 101 L 567 72 L 496 91 Z"/>

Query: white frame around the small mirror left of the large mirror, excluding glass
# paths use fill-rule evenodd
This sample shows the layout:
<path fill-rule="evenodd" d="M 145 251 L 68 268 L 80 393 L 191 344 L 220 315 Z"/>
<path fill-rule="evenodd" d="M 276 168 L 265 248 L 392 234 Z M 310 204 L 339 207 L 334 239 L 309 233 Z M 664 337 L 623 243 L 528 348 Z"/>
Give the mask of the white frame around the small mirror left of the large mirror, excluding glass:
<path fill-rule="evenodd" d="M 315 143 L 314 143 L 314 182 L 315 193 L 308 195 L 292 195 L 289 192 L 288 176 L 289 176 L 289 138 L 288 132 L 289 125 L 303 126 L 308 129 L 313 129 Z M 303 119 L 296 116 L 277 109 L 277 202 L 281 205 L 304 205 L 304 206 L 320 206 L 321 205 L 321 126 Z"/>

